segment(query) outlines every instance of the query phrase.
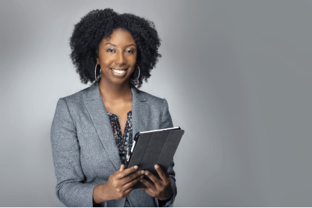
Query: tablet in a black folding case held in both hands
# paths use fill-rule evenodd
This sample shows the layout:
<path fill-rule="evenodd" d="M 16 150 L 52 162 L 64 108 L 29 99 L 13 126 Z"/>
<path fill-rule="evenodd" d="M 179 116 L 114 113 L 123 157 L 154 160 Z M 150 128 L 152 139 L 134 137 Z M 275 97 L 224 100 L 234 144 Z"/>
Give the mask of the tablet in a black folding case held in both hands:
<path fill-rule="evenodd" d="M 127 162 L 127 168 L 137 165 L 138 169 L 135 172 L 148 170 L 159 179 L 154 165 L 159 164 L 159 167 L 166 173 L 183 134 L 184 130 L 180 127 L 179 129 L 139 133 L 135 149 Z M 144 175 L 144 179 L 154 184 L 148 176 Z M 133 189 L 144 187 L 146 186 L 139 181 Z"/>

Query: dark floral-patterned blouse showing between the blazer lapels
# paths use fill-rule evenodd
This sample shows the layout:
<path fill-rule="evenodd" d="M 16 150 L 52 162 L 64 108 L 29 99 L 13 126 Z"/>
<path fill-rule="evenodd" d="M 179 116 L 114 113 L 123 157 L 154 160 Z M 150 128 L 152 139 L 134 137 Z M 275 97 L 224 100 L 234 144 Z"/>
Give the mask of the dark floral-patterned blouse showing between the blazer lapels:
<path fill-rule="evenodd" d="M 127 122 L 125 122 L 123 135 L 121 135 L 121 127 L 118 116 L 110 112 L 107 112 L 107 115 L 110 117 L 110 124 L 112 125 L 114 138 L 119 149 L 121 163 L 125 165 L 125 162 L 130 157 L 132 148 L 132 111 L 127 113 L 128 118 Z"/>

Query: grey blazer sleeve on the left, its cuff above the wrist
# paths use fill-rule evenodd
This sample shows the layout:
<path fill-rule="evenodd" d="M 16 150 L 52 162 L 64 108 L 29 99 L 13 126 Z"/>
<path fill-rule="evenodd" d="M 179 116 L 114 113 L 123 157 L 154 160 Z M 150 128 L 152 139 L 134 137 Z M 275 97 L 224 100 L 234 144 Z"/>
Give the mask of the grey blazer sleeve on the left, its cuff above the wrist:
<path fill-rule="evenodd" d="M 67 207 L 93 207 L 96 184 L 84 183 L 76 126 L 64 98 L 60 98 L 56 105 L 50 138 L 57 180 L 56 196 Z"/>

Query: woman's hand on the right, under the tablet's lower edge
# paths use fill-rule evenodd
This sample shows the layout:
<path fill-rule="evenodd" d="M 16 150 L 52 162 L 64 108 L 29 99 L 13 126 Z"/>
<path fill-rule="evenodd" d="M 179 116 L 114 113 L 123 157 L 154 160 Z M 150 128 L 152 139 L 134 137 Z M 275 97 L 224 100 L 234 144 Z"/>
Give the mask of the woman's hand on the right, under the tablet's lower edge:
<path fill-rule="evenodd" d="M 146 185 L 147 188 L 141 188 L 141 190 L 148 193 L 148 195 L 158 198 L 159 200 L 166 200 L 173 195 L 173 188 L 171 187 L 171 180 L 168 171 L 164 173 L 158 164 L 155 164 L 155 169 L 160 177 L 160 180 L 156 178 L 150 171 L 145 171 L 145 175 L 152 180 L 155 185 L 151 184 L 144 178 L 140 181 Z"/>

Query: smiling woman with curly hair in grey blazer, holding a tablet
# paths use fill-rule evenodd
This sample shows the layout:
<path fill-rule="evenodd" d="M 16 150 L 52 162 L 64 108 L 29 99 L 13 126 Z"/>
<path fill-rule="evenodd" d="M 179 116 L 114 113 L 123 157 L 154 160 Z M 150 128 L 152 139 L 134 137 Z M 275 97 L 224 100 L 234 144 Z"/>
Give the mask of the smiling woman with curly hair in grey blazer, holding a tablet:
<path fill-rule="evenodd" d="M 138 90 L 161 57 L 153 22 L 93 10 L 75 25 L 70 46 L 81 82 L 94 83 L 58 100 L 51 126 L 56 196 L 67 207 L 172 207 L 173 160 L 166 172 L 155 164 L 160 179 L 125 169 L 132 135 L 173 127 L 166 100 Z M 132 189 L 137 182 L 146 188 Z"/>

